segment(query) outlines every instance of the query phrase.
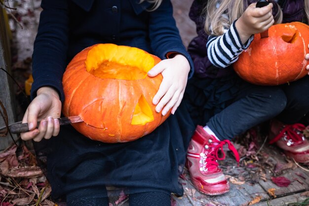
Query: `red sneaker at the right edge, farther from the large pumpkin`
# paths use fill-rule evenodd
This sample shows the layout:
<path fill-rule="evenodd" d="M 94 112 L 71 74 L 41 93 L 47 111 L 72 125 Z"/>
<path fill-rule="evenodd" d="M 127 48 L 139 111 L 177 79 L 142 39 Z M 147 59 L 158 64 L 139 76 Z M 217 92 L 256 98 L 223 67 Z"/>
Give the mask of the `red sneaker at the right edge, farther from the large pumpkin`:
<path fill-rule="evenodd" d="M 309 142 L 303 135 L 303 124 L 282 124 L 271 121 L 270 144 L 283 149 L 284 153 L 298 163 L 309 163 Z"/>

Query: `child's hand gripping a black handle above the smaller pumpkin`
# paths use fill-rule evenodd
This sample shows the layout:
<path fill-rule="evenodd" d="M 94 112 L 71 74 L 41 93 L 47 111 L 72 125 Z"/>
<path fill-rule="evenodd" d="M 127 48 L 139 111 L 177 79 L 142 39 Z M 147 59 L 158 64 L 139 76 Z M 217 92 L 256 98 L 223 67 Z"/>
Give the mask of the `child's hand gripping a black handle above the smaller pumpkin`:
<path fill-rule="evenodd" d="M 274 23 L 272 16 L 272 3 L 261 8 L 251 3 L 241 17 L 236 21 L 235 27 L 241 42 L 248 41 L 251 35 L 264 32 Z"/>

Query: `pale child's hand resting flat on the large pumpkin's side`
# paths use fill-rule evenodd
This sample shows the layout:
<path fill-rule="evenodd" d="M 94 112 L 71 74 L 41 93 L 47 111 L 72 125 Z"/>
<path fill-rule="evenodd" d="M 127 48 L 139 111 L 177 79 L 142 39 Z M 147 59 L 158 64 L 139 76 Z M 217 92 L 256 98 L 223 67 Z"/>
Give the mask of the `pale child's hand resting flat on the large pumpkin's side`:
<path fill-rule="evenodd" d="M 172 108 L 171 113 L 175 113 L 184 96 L 189 71 L 190 64 L 187 58 L 177 54 L 174 58 L 160 61 L 148 72 L 150 77 L 160 73 L 163 76 L 159 90 L 153 99 L 153 104 L 156 105 L 156 112 L 160 112 L 163 109 L 162 115 L 166 115 Z"/>

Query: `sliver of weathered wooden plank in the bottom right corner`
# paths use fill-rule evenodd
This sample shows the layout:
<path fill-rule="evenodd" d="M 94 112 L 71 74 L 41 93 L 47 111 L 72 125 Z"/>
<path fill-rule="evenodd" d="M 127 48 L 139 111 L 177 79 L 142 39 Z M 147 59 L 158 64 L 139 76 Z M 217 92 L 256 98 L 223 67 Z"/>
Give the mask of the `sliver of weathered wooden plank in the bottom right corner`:
<path fill-rule="evenodd" d="M 306 200 L 307 198 L 308 197 L 300 196 L 300 194 L 293 194 L 293 195 L 269 200 L 266 202 L 260 202 L 260 203 L 254 204 L 253 206 L 287 206 L 288 204 L 291 204 L 291 203 L 304 202 L 304 200 Z"/>

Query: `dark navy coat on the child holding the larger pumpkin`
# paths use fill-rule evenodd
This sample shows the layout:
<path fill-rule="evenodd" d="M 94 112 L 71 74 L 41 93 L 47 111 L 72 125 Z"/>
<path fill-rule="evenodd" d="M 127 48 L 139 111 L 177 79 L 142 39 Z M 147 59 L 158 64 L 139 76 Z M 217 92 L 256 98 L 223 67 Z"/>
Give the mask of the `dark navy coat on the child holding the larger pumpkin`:
<path fill-rule="evenodd" d="M 172 16 L 170 0 L 155 11 L 139 0 L 42 0 L 33 53 L 31 96 L 41 86 L 55 87 L 64 100 L 62 75 L 70 60 L 96 43 L 115 43 L 144 49 L 161 59 L 179 52 L 193 63 Z M 177 68 L 175 68 L 177 69 Z"/>

